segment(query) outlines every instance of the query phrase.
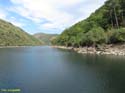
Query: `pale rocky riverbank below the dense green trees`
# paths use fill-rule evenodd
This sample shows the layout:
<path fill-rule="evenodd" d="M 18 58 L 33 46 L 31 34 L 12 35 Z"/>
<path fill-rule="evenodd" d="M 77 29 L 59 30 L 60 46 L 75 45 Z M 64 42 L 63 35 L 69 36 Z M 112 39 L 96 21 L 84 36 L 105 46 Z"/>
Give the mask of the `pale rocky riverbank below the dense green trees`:
<path fill-rule="evenodd" d="M 125 44 L 122 45 L 105 45 L 99 48 L 95 47 L 65 47 L 65 46 L 52 46 L 54 48 L 70 49 L 81 54 L 97 54 L 97 55 L 119 55 L 125 56 Z"/>

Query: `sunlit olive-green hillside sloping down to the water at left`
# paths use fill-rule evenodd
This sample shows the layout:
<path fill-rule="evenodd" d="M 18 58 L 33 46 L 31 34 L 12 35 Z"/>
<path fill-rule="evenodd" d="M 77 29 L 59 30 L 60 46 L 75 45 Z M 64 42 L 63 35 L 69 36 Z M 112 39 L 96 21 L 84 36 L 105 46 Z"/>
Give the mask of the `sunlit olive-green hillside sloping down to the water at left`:
<path fill-rule="evenodd" d="M 12 23 L 0 19 L 0 46 L 32 46 L 41 45 L 35 37 L 24 32 Z"/>

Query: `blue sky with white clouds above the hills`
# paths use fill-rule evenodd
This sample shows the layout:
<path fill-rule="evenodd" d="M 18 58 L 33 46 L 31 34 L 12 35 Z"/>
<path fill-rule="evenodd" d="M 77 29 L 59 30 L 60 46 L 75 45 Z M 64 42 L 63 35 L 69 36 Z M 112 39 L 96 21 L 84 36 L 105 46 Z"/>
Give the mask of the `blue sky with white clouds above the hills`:
<path fill-rule="evenodd" d="M 106 0 L 0 0 L 0 18 L 30 34 L 60 34 Z"/>

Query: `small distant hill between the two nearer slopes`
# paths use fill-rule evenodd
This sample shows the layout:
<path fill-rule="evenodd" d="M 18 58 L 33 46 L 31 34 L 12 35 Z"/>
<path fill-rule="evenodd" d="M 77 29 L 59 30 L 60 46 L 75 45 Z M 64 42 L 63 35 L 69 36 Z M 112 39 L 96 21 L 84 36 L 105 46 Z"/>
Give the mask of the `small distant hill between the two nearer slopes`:
<path fill-rule="evenodd" d="M 33 36 L 43 42 L 44 45 L 51 45 L 51 40 L 56 38 L 58 34 L 36 33 Z"/>

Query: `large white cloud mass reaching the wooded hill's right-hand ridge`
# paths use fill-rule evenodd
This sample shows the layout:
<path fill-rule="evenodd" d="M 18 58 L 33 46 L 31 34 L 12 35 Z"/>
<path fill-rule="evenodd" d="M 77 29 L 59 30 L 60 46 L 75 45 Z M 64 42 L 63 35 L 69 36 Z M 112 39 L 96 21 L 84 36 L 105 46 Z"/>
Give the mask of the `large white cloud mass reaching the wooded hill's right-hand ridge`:
<path fill-rule="evenodd" d="M 43 28 L 64 29 L 88 17 L 104 1 L 106 0 L 11 0 L 15 4 L 11 10 L 38 24 L 43 19 L 48 20 L 50 23 L 41 24 Z M 73 13 L 66 12 L 67 10 Z"/>

